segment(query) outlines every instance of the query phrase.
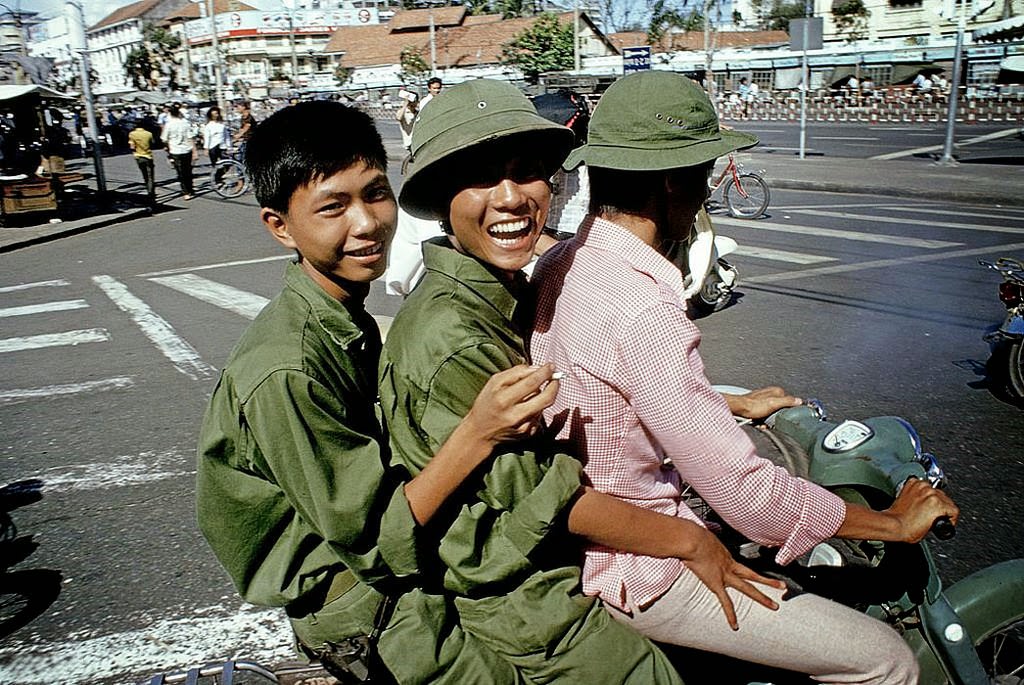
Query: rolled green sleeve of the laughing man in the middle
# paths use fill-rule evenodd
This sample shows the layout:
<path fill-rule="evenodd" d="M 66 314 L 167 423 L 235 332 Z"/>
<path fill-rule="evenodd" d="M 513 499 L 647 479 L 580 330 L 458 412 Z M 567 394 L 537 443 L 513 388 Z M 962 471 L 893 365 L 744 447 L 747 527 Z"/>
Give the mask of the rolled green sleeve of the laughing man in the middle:
<path fill-rule="evenodd" d="M 469 412 L 487 379 L 511 366 L 489 344 L 466 348 L 440 366 L 420 421 L 431 454 Z M 529 555 L 553 529 L 564 528 L 560 517 L 580 488 L 581 465 L 567 455 L 547 458 L 532 447 L 543 448 L 543 442 L 499 447 L 477 491 L 456 503 L 439 546 L 449 590 L 471 594 L 532 571 Z M 395 445 L 396 454 L 400 448 Z"/>

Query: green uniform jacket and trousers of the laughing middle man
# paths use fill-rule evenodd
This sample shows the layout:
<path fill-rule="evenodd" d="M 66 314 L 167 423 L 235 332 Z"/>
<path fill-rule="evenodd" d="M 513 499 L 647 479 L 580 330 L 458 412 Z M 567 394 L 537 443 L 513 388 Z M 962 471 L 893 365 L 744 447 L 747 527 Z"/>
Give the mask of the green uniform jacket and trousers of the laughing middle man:
<path fill-rule="evenodd" d="M 380 393 L 393 460 L 418 472 L 495 373 L 526 360 L 525 279 L 496 276 L 452 248 L 423 244 L 426 274 L 402 304 L 381 355 Z M 546 438 L 499 447 L 430 523 L 440 582 L 463 629 L 534 682 L 676 683 L 645 638 L 580 588 L 565 516 L 580 463 Z"/>

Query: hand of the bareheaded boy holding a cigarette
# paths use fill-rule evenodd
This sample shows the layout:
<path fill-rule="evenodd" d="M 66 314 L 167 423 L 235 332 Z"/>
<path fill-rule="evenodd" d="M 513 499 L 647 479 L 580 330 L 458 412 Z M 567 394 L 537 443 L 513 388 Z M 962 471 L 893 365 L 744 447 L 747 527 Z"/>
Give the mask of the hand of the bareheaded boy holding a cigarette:
<path fill-rule="evenodd" d="M 537 432 L 541 412 L 555 401 L 558 381 L 554 367 L 519 365 L 490 377 L 463 419 L 474 434 L 494 444 Z"/>

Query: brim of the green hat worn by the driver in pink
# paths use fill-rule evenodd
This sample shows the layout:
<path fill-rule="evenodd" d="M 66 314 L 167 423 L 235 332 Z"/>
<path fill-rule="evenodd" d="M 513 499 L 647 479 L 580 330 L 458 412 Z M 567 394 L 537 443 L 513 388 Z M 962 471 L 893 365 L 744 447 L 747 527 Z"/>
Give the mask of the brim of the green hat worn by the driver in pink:
<path fill-rule="evenodd" d="M 562 168 L 571 171 L 581 164 L 586 164 L 589 167 L 621 171 L 665 171 L 695 167 L 756 144 L 758 144 L 756 136 L 731 130 L 720 131 L 719 137 L 715 140 L 656 149 L 587 143 L 569 153 Z"/>

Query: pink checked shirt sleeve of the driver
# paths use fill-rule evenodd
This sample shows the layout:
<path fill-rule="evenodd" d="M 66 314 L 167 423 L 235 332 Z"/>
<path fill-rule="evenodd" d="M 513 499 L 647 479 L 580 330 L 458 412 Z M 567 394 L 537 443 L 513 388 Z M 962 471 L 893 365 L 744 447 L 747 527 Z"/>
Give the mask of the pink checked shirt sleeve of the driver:
<path fill-rule="evenodd" d="M 725 398 L 708 382 L 699 333 L 681 308 L 651 305 L 624 327 L 621 339 L 624 386 L 639 420 L 729 525 L 781 547 L 779 563 L 839 529 L 846 515 L 842 500 L 755 454 Z"/>

